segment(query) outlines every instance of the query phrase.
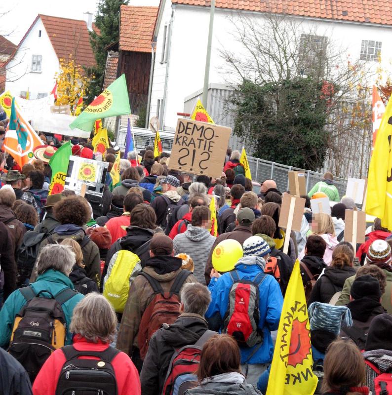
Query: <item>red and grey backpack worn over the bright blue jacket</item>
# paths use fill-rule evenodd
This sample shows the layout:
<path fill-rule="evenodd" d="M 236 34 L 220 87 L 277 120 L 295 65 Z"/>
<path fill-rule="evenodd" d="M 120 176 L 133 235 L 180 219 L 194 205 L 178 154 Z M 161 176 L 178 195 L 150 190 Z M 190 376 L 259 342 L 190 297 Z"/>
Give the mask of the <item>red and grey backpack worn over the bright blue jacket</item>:
<path fill-rule="evenodd" d="M 253 281 L 240 279 L 236 270 L 230 272 L 233 285 L 229 292 L 229 309 L 223 317 L 223 333 L 233 336 L 240 346 L 253 347 L 263 342 L 259 330 L 259 286 L 266 279 L 264 273 Z"/>

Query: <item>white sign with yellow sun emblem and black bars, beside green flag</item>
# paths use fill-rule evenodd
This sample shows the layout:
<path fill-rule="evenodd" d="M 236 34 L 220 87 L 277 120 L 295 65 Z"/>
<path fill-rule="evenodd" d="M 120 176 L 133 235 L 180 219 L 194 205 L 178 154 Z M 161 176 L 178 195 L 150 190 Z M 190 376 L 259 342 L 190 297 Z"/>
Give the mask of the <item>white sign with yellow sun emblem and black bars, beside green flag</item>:
<path fill-rule="evenodd" d="M 84 192 L 101 197 L 107 171 L 108 162 L 71 156 L 64 187 L 72 189 L 77 195 Z M 85 190 L 83 184 L 86 185 Z"/>

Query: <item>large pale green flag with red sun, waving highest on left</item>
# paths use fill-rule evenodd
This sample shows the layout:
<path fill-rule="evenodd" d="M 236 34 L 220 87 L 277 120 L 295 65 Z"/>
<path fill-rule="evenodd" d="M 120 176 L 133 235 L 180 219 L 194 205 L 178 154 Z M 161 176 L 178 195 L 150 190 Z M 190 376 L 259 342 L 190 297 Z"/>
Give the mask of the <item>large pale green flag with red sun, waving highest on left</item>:
<path fill-rule="evenodd" d="M 84 111 L 70 123 L 70 128 L 91 131 L 99 118 L 130 114 L 125 74 L 111 83 Z"/>

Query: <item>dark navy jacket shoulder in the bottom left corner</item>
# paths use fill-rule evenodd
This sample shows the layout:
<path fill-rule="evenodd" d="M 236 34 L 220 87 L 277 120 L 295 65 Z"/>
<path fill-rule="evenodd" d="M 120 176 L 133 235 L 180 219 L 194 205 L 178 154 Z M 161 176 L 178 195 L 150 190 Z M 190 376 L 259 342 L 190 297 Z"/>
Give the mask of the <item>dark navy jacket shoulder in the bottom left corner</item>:
<path fill-rule="evenodd" d="M 30 379 L 24 367 L 0 348 L 1 395 L 33 395 Z"/>

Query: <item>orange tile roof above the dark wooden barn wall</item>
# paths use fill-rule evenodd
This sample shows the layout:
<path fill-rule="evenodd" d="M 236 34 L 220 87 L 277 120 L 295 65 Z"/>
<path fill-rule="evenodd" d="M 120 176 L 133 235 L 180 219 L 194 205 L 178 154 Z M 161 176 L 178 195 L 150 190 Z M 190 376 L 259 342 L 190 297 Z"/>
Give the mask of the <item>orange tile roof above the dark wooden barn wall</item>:
<path fill-rule="evenodd" d="M 151 52 L 157 13 L 158 7 L 121 5 L 119 49 Z"/>

